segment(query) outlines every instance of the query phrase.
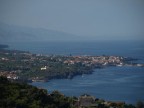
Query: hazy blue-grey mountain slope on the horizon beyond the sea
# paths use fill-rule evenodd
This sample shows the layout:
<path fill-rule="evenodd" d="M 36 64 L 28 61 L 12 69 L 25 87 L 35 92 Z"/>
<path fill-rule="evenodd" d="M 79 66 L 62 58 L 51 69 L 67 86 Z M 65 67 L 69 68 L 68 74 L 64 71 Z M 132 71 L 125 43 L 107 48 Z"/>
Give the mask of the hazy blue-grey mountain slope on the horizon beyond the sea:
<path fill-rule="evenodd" d="M 79 38 L 79 36 L 65 32 L 0 23 L 0 42 L 73 41 Z"/>

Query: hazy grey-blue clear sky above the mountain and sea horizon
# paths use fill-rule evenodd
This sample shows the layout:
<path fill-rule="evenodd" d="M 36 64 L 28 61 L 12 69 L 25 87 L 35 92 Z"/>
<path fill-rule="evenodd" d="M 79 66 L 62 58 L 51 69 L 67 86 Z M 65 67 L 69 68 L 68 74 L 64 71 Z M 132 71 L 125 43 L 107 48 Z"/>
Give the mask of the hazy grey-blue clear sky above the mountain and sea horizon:
<path fill-rule="evenodd" d="M 0 22 L 83 38 L 144 40 L 144 0 L 0 0 Z"/>

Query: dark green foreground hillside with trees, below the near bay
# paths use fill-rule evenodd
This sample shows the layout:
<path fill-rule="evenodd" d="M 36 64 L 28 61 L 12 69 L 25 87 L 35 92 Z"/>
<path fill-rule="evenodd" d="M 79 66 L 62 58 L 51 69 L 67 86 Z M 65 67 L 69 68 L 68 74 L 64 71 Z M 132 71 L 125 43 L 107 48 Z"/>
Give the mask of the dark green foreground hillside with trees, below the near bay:
<path fill-rule="evenodd" d="M 136 108 L 124 102 L 95 99 L 90 95 L 67 97 L 58 91 L 45 89 L 0 77 L 0 108 Z M 137 108 L 143 108 L 138 102 Z"/>

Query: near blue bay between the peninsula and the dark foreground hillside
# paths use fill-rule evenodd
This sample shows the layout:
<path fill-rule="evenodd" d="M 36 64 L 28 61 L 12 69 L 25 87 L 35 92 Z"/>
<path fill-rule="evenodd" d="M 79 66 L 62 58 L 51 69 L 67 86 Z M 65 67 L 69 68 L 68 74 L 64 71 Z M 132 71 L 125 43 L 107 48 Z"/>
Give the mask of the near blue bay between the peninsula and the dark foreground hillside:
<path fill-rule="evenodd" d="M 48 92 L 59 90 L 67 96 L 90 94 L 111 101 L 135 104 L 144 100 L 144 68 L 109 67 L 96 69 L 91 75 L 76 76 L 74 79 L 54 79 L 49 82 L 33 82 Z"/>

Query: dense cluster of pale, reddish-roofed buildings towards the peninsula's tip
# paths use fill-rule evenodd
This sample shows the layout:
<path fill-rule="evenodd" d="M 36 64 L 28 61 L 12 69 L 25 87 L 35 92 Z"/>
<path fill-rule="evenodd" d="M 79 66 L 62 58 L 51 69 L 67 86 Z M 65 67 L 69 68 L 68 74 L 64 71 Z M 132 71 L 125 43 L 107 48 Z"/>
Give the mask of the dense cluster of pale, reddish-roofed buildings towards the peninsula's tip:
<path fill-rule="evenodd" d="M 64 63 L 71 65 L 82 63 L 84 65 L 124 65 L 123 57 L 120 56 L 73 56 Z"/>

